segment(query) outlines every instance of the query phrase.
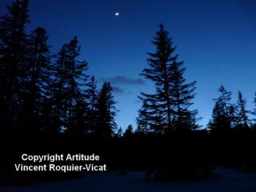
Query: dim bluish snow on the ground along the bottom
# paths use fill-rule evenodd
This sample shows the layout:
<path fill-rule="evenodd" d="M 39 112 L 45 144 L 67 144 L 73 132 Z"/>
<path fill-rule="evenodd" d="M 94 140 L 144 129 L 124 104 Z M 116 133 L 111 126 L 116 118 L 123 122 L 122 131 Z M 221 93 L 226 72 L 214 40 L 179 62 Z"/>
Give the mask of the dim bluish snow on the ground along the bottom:
<path fill-rule="evenodd" d="M 42 183 L 36 186 L 2 187 L 4 192 L 255 192 L 256 174 L 244 174 L 238 170 L 216 167 L 215 177 L 206 181 L 146 182 L 142 172 L 131 171 L 125 177 L 118 172 L 91 173 L 84 178 L 61 182 Z"/>

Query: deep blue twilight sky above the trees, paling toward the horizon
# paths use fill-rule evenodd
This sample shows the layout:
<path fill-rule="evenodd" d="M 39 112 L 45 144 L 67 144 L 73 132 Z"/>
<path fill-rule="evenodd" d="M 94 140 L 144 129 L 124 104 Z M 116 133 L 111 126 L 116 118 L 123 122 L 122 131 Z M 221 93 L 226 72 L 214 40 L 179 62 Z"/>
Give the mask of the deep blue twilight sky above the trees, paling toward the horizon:
<path fill-rule="evenodd" d="M 10 0 L 0 1 L 1 15 Z M 120 16 L 114 16 L 119 12 Z M 256 1 L 249 0 L 30 0 L 28 30 L 43 26 L 55 53 L 74 35 L 82 44 L 82 58 L 98 84 L 111 80 L 122 128 L 135 125 L 141 106 L 138 94 L 152 91 L 140 79 L 146 52 L 159 23 L 166 26 L 185 62 L 188 82 L 196 80 L 194 108 L 200 122 L 209 121 L 222 83 L 247 98 L 249 109 L 256 91 Z"/>

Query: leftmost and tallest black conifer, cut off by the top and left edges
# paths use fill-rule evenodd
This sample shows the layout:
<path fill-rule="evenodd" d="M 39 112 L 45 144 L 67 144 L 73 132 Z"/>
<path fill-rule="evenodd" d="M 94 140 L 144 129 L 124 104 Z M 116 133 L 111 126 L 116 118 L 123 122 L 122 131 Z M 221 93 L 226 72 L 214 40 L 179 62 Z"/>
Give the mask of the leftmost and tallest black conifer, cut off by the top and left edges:
<path fill-rule="evenodd" d="M 15 0 L 0 18 L 0 177 L 3 178 L 8 175 L 5 171 L 11 170 L 17 151 L 27 145 L 19 114 L 26 93 L 28 22 L 27 0 Z"/>

